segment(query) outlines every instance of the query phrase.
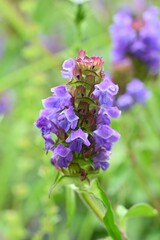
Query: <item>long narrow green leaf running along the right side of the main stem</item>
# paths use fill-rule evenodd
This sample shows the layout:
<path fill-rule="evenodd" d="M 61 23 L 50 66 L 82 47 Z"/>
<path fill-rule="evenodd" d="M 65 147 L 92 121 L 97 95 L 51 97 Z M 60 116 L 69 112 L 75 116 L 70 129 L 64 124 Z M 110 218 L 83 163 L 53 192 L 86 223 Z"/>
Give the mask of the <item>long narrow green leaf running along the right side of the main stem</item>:
<path fill-rule="evenodd" d="M 107 212 L 103 218 L 103 223 L 104 223 L 109 235 L 114 240 L 121 240 L 122 239 L 121 233 L 115 223 L 114 213 L 113 213 L 111 204 L 110 204 L 105 192 L 100 188 L 98 182 L 96 182 L 96 181 L 93 182 L 92 188 L 93 188 L 93 194 L 95 195 L 95 197 L 100 199 L 102 201 L 102 203 L 104 204 L 104 206 L 106 207 Z"/>

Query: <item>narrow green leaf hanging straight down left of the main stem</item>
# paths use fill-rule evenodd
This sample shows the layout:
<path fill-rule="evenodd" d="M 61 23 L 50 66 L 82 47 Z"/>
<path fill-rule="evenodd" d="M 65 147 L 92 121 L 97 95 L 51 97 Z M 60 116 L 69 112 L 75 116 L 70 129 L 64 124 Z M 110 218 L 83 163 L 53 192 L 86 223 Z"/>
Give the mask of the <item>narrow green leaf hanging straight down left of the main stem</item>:
<path fill-rule="evenodd" d="M 76 210 L 75 191 L 69 186 L 66 187 L 66 213 L 67 226 L 70 227 Z"/>

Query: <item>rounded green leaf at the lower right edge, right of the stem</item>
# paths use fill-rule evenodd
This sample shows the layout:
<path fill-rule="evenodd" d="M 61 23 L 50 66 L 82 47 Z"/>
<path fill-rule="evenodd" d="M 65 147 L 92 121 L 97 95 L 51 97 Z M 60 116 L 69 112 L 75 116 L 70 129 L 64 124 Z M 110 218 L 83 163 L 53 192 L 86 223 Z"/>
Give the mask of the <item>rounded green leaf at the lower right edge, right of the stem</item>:
<path fill-rule="evenodd" d="M 147 203 L 139 203 L 134 206 L 132 206 L 127 213 L 124 215 L 125 218 L 130 218 L 130 217 L 154 217 L 158 215 L 158 211 L 151 207 Z"/>

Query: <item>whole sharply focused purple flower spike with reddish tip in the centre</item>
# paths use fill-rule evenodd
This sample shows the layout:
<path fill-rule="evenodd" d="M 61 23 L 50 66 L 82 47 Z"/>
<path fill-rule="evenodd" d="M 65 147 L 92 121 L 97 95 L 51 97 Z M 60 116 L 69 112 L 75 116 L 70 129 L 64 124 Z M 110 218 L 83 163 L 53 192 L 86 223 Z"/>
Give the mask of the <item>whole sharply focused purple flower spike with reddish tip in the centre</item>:
<path fill-rule="evenodd" d="M 113 106 L 118 86 L 105 75 L 102 58 L 88 57 L 83 50 L 64 61 L 61 74 L 70 81 L 51 89 L 35 123 L 45 150 L 52 151 L 51 163 L 62 171 L 78 166 L 85 176 L 106 170 L 112 145 L 120 137 L 110 127 L 111 118 L 120 115 Z"/>

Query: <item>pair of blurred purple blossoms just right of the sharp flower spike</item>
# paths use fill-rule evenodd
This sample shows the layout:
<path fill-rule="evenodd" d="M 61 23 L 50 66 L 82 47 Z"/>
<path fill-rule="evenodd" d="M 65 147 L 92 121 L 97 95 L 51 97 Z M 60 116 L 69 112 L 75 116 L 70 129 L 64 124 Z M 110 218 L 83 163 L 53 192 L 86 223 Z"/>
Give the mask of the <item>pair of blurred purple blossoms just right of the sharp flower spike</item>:
<path fill-rule="evenodd" d="M 133 79 L 127 84 L 126 92 L 117 98 L 116 105 L 120 109 L 127 111 L 136 103 L 144 104 L 149 96 L 150 92 L 144 83 L 139 79 Z"/>

